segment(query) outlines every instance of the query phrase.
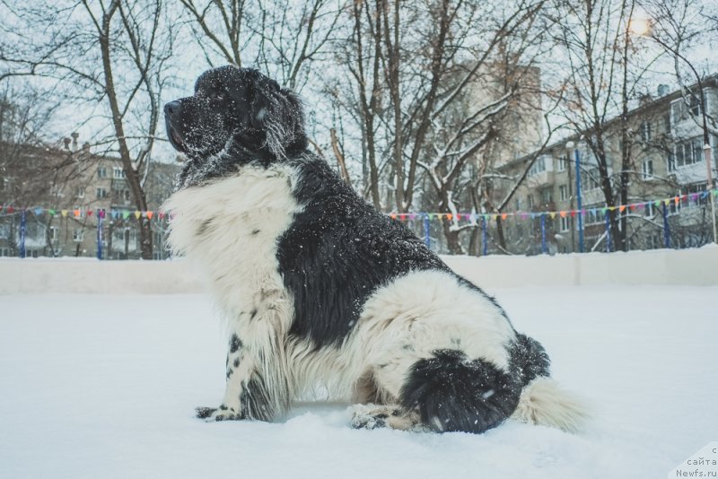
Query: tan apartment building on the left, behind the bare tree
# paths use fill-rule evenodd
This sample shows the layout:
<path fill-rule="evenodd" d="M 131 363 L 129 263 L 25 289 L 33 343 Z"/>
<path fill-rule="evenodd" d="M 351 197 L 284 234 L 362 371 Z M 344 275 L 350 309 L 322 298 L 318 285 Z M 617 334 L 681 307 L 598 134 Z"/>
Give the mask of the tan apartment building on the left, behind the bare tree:
<path fill-rule="evenodd" d="M 97 257 L 98 244 L 102 258 L 140 257 L 136 207 L 118 158 L 95 154 L 89 144 L 78 148 L 74 135 L 61 146 L 5 144 L 0 161 L 0 256 L 20 256 L 23 243 L 27 257 Z M 151 210 L 171 194 L 178 168 L 151 163 L 145 184 Z M 157 259 L 167 256 L 165 227 L 153 222 Z"/>

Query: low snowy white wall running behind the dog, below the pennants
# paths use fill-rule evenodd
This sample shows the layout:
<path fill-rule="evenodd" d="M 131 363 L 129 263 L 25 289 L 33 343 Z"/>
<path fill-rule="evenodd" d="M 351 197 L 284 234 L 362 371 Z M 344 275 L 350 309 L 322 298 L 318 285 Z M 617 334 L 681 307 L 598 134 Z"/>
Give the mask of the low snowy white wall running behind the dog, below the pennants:
<path fill-rule="evenodd" d="M 589 253 L 554 257 L 443 257 L 457 273 L 487 288 L 600 284 L 718 284 L 718 246 Z M 182 260 L 0 260 L 0 294 L 37 292 L 203 292 Z"/>

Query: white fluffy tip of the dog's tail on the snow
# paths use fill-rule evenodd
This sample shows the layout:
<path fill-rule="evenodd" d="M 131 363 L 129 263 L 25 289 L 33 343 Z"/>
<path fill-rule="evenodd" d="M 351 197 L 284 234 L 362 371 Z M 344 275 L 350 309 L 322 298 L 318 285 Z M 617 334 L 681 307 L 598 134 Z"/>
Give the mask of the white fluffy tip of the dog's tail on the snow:
<path fill-rule="evenodd" d="M 589 413 L 581 398 L 561 388 L 554 379 L 536 378 L 521 391 L 512 418 L 576 432 L 581 431 Z"/>

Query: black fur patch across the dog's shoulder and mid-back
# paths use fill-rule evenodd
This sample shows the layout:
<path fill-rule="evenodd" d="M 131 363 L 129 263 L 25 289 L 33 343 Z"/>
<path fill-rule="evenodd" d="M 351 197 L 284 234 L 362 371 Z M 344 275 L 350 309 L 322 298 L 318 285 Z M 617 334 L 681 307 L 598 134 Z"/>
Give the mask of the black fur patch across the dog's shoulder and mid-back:
<path fill-rule="evenodd" d="M 294 298 L 291 335 L 317 347 L 338 344 L 369 295 L 418 270 L 450 271 L 403 224 L 377 212 L 325 161 L 305 152 L 293 194 L 302 213 L 279 239 L 277 258 Z"/>

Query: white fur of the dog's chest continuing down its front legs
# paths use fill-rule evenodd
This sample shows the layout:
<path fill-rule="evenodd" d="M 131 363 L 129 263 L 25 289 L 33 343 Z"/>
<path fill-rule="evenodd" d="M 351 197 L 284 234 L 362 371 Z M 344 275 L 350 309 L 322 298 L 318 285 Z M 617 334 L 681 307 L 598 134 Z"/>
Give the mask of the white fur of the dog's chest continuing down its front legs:
<path fill-rule="evenodd" d="M 171 247 L 206 275 L 231 332 L 244 343 L 237 371 L 243 374 L 227 381 L 228 406 L 238 405 L 248 368 L 261 372 L 276 410 L 290 400 L 284 339 L 293 299 L 277 272 L 276 240 L 300 210 L 290 194 L 292 180 L 292 170 L 283 167 L 246 167 L 180 190 L 165 205 L 174 214 Z"/>

